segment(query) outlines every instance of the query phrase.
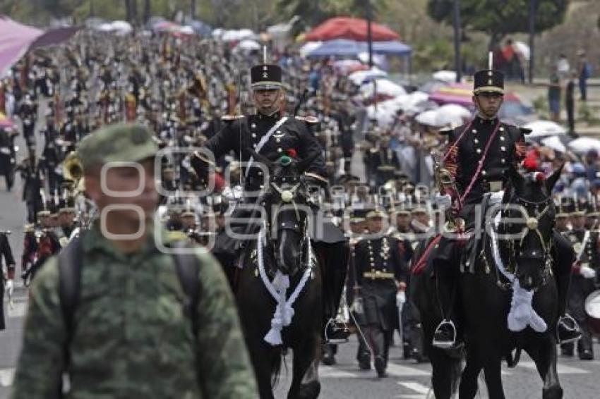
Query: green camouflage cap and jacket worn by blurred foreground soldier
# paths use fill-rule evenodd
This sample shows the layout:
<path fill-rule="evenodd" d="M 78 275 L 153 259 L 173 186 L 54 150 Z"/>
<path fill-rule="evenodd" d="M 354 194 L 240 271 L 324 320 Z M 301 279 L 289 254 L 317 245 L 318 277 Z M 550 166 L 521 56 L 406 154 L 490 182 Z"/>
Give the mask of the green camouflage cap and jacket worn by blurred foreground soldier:
<path fill-rule="evenodd" d="M 126 147 L 132 142 L 148 144 L 139 130 L 127 144 L 133 129 L 112 129 L 90 137 L 107 135 Z M 124 161 L 140 161 L 131 148 L 119 152 Z M 171 243 L 166 231 L 160 235 L 165 245 Z M 194 334 L 184 313 L 186 294 L 174 258 L 160 252 L 156 241 L 148 233 L 140 250 L 125 254 L 104 238 L 97 225 L 83 235 L 80 297 L 70 340 L 59 295 L 59 262 L 49 259 L 32 284 L 12 399 L 56 396 L 67 340 L 71 389 L 66 398 L 258 398 L 234 300 L 220 266 L 198 250 Z"/>

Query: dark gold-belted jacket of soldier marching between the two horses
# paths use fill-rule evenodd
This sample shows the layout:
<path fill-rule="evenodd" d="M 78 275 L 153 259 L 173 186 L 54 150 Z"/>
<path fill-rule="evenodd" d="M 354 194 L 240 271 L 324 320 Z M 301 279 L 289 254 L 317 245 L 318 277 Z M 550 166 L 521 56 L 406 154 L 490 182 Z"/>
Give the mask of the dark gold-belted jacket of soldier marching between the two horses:
<path fill-rule="evenodd" d="M 406 281 L 407 268 L 397 239 L 361 240 L 355 248 L 356 281 L 363 297 L 364 324 L 392 330 L 396 319 L 398 283 Z"/>

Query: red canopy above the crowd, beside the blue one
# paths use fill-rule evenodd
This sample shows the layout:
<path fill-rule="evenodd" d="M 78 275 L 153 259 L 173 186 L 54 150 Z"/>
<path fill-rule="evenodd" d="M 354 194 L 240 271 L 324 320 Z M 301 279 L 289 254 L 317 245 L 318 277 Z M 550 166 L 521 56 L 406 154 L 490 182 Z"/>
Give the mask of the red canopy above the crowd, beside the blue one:
<path fill-rule="evenodd" d="M 398 40 L 400 35 L 378 23 L 371 23 L 373 42 Z M 352 39 L 359 42 L 367 41 L 367 21 L 360 18 L 336 17 L 326 20 L 306 34 L 307 42 L 318 40 Z"/>

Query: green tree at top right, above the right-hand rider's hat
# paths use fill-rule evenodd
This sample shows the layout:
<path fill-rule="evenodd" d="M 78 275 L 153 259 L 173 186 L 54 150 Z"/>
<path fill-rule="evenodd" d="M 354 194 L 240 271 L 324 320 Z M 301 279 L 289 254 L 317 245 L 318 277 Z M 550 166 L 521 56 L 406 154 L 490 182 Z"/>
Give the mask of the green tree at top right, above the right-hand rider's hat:
<path fill-rule="evenodd" d="M 511 33 L 529 32 L 531 0 L 460 0 L 460 22 L 463 29 L 487 33 L 490 47 Z M 452 24 L 454 0 L 429 0 L 428 14 L 434 20 Z M 568 0 L 536 1 L 536 32 L 563 23 Z"/>

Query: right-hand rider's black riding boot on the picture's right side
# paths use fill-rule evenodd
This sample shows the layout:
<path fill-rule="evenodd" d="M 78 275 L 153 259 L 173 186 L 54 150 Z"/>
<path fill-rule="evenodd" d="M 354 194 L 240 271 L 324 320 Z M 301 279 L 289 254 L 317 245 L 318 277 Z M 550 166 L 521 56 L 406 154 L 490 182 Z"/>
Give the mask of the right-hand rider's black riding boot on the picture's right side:
<path fill-rule="evenodd" d="M 575 252 L 570 243 L 557 231 L 553 232 L 554 248 L 552 271 L 556 278 L 558 290 L 558 324 L 556 334 L 559 343 L 568 343 L 581 337 L 577 322 L 568 314 L 567 309 L 569 286 L 571 283 L 571 267 L 575 262 Z"/>

